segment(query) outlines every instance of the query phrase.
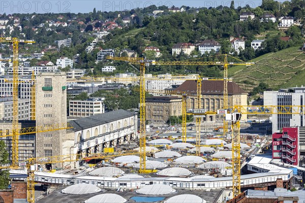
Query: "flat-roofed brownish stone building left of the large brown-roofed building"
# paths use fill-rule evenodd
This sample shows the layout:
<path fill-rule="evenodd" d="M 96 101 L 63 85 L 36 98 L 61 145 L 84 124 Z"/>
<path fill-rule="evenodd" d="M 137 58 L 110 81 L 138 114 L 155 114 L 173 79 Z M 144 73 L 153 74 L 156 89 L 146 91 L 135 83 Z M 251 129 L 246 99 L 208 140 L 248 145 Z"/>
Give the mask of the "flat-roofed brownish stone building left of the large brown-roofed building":
<path fill-rule="evenodd" d="M 150 123 L 166 123 L 170 116 L 180 116 L 181 98 L 178 96 L 151 96 L 145 98 L 145 116 Z"/>

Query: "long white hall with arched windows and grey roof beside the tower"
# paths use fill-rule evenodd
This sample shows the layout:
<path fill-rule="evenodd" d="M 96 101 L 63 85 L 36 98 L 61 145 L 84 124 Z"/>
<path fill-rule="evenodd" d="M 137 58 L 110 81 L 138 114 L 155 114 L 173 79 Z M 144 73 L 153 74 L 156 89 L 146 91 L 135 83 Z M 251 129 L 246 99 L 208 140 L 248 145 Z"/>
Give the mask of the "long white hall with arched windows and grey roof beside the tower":
<path fill-rule="evenodd" d="M 102 153 L 104 148 L 128 144 L 137 139 L 137 119 L 136 113 L 120 109 L 69 121 L 73 128 L 67 132 L 63 154 Z M 76 167 L 82 163 L 77 161 Z"/>

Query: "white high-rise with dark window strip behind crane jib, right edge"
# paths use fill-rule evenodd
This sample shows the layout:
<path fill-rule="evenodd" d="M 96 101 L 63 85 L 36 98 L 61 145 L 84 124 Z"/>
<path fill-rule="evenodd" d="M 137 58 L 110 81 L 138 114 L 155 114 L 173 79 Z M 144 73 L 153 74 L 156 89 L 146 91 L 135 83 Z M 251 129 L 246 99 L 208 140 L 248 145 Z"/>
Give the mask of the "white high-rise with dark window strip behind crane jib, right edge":
<path fill-rule="evenodd" d="M 304 106 L 305 87 L 264 91 L 265 106 Z M 272 114 L 272 132 L 279 132 L 283 127 L 305 126 L 302 114 Z"/>

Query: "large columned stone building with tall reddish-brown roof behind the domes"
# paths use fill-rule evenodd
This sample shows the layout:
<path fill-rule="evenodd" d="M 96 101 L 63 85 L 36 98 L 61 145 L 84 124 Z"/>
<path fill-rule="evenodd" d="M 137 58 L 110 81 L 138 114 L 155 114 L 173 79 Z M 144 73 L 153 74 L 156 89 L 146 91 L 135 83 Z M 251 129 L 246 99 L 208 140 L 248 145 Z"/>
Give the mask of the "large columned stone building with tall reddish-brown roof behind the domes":
<path fill-rule="evenodd" d="M 196 109 L 197 83 L 195 80 L 187 80 L 175 91 L 189 92 L 193 95 L 188 109 Z M 224 81 L 202 80 L 201 83 L 201 107 L 208 111 L 216 111 L 224 108 Z M 243 91 L 236 83 L 228 81 L 228 106 L 247 106 L 247 92 Z M 203 118 L 205 121 L 222 121 L 223 115 L 209 115 Z M 247 114 L 243 114 L 241 120 L 247 120 Z"/>

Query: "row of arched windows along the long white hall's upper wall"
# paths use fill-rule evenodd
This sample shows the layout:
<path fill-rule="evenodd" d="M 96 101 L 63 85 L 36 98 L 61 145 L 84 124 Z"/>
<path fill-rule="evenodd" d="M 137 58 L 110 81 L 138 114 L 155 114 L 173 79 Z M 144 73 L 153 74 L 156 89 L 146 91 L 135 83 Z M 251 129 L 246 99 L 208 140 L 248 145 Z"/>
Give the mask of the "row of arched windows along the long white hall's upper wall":
<path fill-rule="evenodd" d="M 106 127 L 106 125 L 108 125 L 109 127 L 108 126 Z M 134 119 L 133 118 L 130 119 L 130 125 L 131 126 L 134 125 Z M 114 131 L 115 129 L 120 129 L 121 127 L 127 127 L 127 126 L 128 126 L 127 119 L 124 120 L 124 125 L 123 126 L 121 126 L 121 122 L 118 121 L 117 124 L 116 124 L 116 128 L 114 128 L 113 123 L 111 123 L 110 125 L 109 125 L 109 123 L 107 123 L 107 124 L 103 125 L 102 134 L 104 134 L 106 132 Z M 107 128 L 109 128 L 109 130 L 107 130 Z M 87 129 L 83 133 L 83 135 L 84 135 L 83 140 L 89 139 L 89 138 L 92 138 L 92 137 L 97 137 L 97 136 L 99 136 L 99 134 L 100 133 L 99 133 L 98 127 L 95 128 L 93 136 L 90 133 L 90 129 Z M 79 132 L 77 134 L 77 142 L 80 142 L 81 140 L 82 140 L 82 136 L 81 136 L 81 133 Z"/>

